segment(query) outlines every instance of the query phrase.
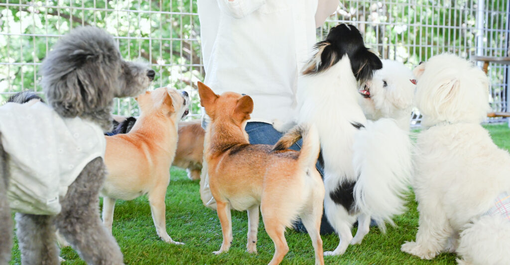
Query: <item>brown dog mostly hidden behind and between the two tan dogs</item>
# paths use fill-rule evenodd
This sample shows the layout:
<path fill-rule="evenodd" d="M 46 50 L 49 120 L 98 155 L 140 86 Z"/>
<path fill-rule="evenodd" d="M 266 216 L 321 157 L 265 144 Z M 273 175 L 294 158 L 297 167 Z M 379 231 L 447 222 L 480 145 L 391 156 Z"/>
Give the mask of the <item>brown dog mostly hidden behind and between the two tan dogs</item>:
<path fill-rule="evenodd" d="M 179 142 L 173 166 L 186 168 L 190 180 L 199 180 L 202 170 L 203 130 L 200 120 L 179 123 Z"/>

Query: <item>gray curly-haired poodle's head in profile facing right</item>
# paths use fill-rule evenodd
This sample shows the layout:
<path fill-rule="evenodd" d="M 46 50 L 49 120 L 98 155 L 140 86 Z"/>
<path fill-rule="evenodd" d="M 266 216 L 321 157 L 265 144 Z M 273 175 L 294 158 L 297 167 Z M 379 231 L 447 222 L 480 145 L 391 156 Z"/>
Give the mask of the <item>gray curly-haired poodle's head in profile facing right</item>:
<path fill-rule="evenodd" d="M 134 97 L 155 77 L 147 65 L 126 62 L 111 35 L 97 27 L 72 30 L 42 62 L 48 104 L 63 117 L 80 116 L 111 130 L 114 97 Z"/>

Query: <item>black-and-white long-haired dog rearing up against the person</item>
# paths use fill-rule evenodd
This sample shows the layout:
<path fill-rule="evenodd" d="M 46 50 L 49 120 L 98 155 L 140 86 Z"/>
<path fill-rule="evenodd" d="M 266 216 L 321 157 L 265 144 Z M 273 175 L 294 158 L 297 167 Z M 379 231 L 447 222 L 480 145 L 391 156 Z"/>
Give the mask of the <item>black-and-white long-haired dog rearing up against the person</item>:
<path fill-rule="evenodd" d="M 359 244 L 370 219 L 385 221 L 404 211 L 411 175 L 411 142 L 393 120 L 367 122 L 358 104 L 359 84 L 381 69 L 358 29 L 340 24 L 315 45 L 297 90 L 297 123 L 315 123 L 324 161 L 324 209 L 340 244 L 325 255 L 340 255 Z M 285 130 L 289 124 L 275 124 Z M 354 239 L 352 224 L 358 220 Z"/>

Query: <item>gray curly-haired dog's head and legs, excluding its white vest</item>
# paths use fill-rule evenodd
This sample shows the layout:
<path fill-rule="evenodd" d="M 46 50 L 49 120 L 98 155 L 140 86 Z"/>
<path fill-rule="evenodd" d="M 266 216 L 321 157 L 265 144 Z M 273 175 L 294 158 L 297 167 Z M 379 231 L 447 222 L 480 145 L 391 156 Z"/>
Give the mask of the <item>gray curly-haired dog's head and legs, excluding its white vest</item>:
<path fill-rule="evenodd" d="M 41 73 L 48 105 L 62 117 L 80 117 L 104 131 L 112 129 L 113 98 L 139 95 L 155 77 L 147 66 L 124 61 L 112 36 L 96 27 L 76 28 L 62 37 L 47 54 Z M 9 262 L 12 247 L 9 157 L 0 144 L 0 264 Z M 59 264 L 56 228 L 87 263 L 123 263 L 119 246 L 99 218 L 105 172 L 103 159 L 92 159 L 60 198 L 56 216 L 16 213 L 23 264 Z"/>

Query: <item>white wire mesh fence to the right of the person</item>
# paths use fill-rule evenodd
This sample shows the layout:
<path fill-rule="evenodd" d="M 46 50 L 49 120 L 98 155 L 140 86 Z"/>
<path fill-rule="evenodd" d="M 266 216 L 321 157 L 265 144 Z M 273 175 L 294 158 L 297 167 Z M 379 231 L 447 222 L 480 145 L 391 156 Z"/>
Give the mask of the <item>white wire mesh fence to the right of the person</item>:
<path fill-rule="evenodd" d="M 327 34 L 340 22 L 352 23 L 381 58 L 400 61 L 410 68 L 443 52 L 465 58 L 503 57 L 508 52 L 509 9 L 508 0 L 479 4 L 474 0 L 342 1 L 318 35 Z M 493 110 L 508 111 L 508 66 L 491 65 L 488 74 Z M 500 122 L 502 118 L 489 121 Z M 420 123 L 418 111 L 411 123 Z"/>

